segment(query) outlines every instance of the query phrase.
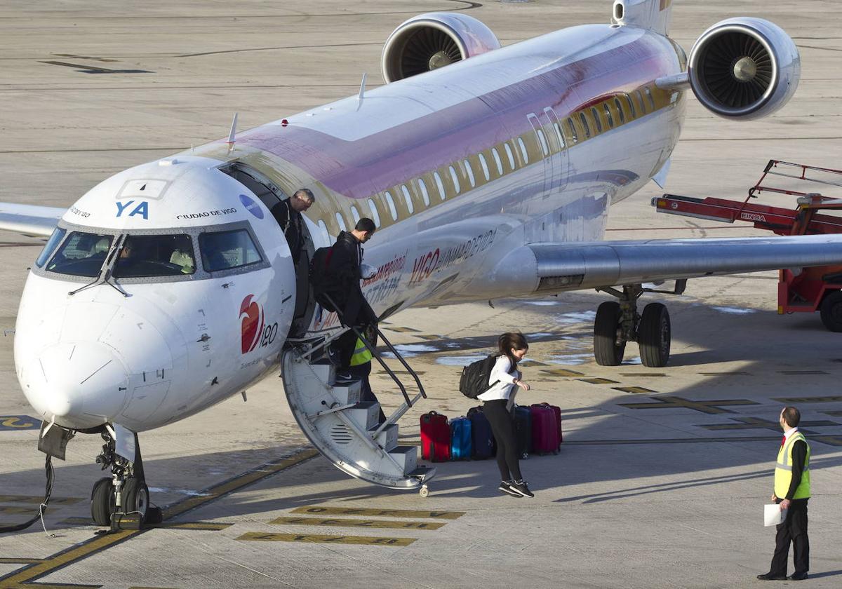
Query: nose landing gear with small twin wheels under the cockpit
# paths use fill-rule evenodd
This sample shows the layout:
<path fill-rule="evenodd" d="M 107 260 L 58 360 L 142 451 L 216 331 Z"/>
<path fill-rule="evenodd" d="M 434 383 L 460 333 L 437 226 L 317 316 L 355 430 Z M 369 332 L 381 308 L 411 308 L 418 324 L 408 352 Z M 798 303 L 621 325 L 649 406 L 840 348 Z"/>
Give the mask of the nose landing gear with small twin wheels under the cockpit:
<path fill-rule="evenodd" d="M 131 439 L 126 439 L 131 437 Z M 102 432 L 103 451 L 97 456 L 102 470 L 111 468 L 111 476 L 104 476 L 93 484 L 91 517 L 99 526 L 140 528 L 144 523 L 160 523 L 161 510 L 151 507 L 149 487 L 143 475 L 141 447 L 135 432 L 120 426 L 106 426 Z M 120 438 L 120 452 L 118 448 Z M 133 459 L 125 458 L 125 454 Z"/>

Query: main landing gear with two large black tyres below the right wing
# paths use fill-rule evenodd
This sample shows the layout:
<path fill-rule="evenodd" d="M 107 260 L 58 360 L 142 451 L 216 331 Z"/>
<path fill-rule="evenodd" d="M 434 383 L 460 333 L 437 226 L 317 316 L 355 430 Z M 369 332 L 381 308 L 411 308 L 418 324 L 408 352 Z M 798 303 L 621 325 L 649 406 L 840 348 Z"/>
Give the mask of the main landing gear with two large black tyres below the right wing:
<path fill-rule="evenodd" d="M 618 366 L 623 361 L 626 342 L 637 342 L 644 366 L 662 368 L 669 361 L 671 328 L 669 311 L 661 303 L 649 303 L 637 314 L 637 299 L 645 292 L 681 294 L 686 280 L 677 280 L 673 291 L 644 289 L 641 284 L 626 284 L 622 292 L 604 288 L 617 301 L 606 301 L 596 310 L 594 320 L 594 358 L 601 366 Z"/>

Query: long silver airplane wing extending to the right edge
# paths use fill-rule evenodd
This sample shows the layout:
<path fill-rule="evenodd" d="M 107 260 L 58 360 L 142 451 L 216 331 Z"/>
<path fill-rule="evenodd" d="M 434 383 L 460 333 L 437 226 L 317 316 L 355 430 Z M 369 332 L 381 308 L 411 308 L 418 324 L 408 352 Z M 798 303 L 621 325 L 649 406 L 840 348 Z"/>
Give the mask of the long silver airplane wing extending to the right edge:
<path fill-rule="evenodd" d="M 486 279 L 537 294 L 834 264 L 842 264 L 842 235 L 532 243 Z"/>

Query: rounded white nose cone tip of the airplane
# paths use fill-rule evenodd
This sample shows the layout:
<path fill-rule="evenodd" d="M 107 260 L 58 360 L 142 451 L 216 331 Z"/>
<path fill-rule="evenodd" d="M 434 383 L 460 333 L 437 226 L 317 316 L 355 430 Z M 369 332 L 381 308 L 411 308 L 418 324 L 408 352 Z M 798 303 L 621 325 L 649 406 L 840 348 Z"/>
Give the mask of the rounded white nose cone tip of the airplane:
<path fill-rule="evenodd" d="M 65 427 L 112 421 L 125 405 L 128 372 L 113 349 L 100 342 L 62 342 L 24 366 L 29 402 L 47 420 Z"/>

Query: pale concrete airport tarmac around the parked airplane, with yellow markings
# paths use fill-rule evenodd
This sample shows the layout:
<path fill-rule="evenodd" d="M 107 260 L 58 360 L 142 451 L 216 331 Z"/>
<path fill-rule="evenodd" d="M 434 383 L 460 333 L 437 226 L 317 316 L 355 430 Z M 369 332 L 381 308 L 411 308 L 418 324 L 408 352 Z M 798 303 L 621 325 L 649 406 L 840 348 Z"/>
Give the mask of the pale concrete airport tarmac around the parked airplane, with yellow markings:
<path fill-rule="evenodd" d="M 836 3 L 681 0 L 686 50 L 718 20 L 781 24 L 802 52 L 791 103 L 752 123 L 690 99 L 667 188 L 742 198 L 770 158 L 840 167 L 842 18 Z M 387 35 L 416 13 L 465 10 L 504 45 L 605 22 L 611 3 L 80 1 L 0 4 L 0 201 L 68 206 L 114 172 L 380 83 Z M 656 215 L 651 184 L 611 210 L 610 238 L 757 235 L 749 226 Z M 376 239 L 376 237 L 375 237 Z M 0 236 L 0 524 L 29 517 L 44 488 L 39 423 L 13 368 L 19 294 L 40 242 Z M 493 460 L 439 465 L 424 499 L 350 479 L 315 455 L 280 381 L 141 435 L 160 528 L 95 535 L 88 497 L 97 436 L 79 435 L 45 517 L 0 536 L 0 587 L 746 587 L 769 569 L 762 526 L 781 406 L 802 410 L 813 448 L 811 587 L 842 583 L 842 355 L 818 315 L 775 314 L 776 273 L 690 281 L 663 297 L 673 320 L 664 369 L 592 360 L 605 295 L 409 310 L 386 327 L 429 399 L 402 420 L 464 414 L 462 364 L 498 332 L 532 342 L 519 401 L 562 407 L 561 454 L 522 463 L 535 499 L 497 491 Z M 645 300 L 658 295 L 647 294 Z M 398 395 L 374 377 L 386 406 Z M 790 567 L 791 572 L 791 567 Z"/>

